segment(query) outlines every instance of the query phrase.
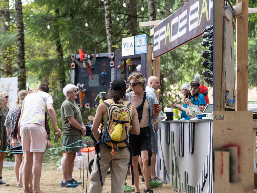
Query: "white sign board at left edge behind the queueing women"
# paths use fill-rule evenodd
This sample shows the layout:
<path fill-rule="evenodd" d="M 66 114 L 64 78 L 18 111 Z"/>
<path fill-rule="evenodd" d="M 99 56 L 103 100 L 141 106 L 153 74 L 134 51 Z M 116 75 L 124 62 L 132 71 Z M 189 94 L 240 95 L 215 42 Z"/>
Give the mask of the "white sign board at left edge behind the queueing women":
<path fill-rule="evenodd" d="M 16 104 L 17 100 L 17 91 L 18 91 L 18 78 L 0 78 L 0 91 L 6 92 L 9 95 L 7 107 L 13 107 Z"/>

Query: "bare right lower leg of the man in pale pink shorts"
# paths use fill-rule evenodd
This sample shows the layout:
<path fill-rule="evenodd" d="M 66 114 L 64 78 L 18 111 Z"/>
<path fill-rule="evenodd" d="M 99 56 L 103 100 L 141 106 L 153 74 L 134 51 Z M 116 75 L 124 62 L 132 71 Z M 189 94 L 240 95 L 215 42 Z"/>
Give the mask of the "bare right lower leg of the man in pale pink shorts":
<path fill-rule="evenodd" d="M 32 167 L 32 173 L 34 178 L 33 193 L 42 192 L 40 191 L 40 177 L 41 177 L 43 157 L 44 157 L 43 152 L 33 152 L 33 167 Z"/>

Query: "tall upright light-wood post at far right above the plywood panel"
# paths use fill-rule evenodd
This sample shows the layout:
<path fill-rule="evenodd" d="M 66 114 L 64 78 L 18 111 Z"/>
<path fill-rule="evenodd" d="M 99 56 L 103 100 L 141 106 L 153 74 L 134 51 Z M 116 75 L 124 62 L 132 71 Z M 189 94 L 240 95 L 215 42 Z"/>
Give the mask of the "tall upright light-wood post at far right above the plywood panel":
<path fill-rule="evenodd" d="M 237 2 L 242 2 L 238 0 Z M 238 3 L 239 4 L 239 3 Z M 234 7 L 235 8 L 235 7 Z M 236 20 L 236 110 L 247 111 L 248 97 L 248 1 Z"/>

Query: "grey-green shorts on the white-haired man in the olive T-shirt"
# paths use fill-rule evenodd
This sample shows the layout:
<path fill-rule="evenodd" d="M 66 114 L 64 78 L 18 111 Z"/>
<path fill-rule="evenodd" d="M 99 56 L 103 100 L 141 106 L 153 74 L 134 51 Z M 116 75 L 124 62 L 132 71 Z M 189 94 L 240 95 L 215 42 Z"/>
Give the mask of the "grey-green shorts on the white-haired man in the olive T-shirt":
<path fill-rule="evenodd" d="M 81 145 L 81 143 L 79 144 L 75 143 L 75 142 L 78 142 L 79 140 L 82 140 L 81 135 L 63 135 L 63 145 L 66 146 L 66 145 L 72 144 L 65 148 L 65 153 L 80 151 L 82 146 L 79 146 L 79 145 Z M 75 146 L 78 146 L 78 147 L 75 147 Z"/>

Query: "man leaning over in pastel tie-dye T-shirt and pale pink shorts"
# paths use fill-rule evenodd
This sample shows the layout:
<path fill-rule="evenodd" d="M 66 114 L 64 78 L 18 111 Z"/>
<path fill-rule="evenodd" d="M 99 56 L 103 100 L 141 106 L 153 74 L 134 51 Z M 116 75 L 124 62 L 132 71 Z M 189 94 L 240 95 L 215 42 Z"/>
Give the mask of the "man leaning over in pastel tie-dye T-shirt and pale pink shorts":
<path fill-rule="evenodd" d="M 32 173 L 34 178 L 33 191 L 40 192 L 39 182 L 45 152 L 44 149 L 47 144 L 50 148 L 50 140 L 47 140 L 47 132 L 44 125 L 46 110 L 48 110 L 53 123 L 54 134 L 57 131 L 59 132 L 59 136 L 61 136 L 61 130 L 57 126 L 56 113 L 53 108 L 53 99 L 48 92 L 49 86 L 47 84 L 41 84 L 38 87 L 38 93 L 32 93 L 25 97 L 21 108 L 19 125 L 24 155 L 24 165 L 22 168 L 24 193 L 31 192 L 28 182 L 32 161 Z"/>

